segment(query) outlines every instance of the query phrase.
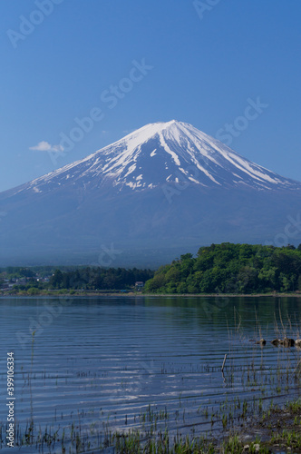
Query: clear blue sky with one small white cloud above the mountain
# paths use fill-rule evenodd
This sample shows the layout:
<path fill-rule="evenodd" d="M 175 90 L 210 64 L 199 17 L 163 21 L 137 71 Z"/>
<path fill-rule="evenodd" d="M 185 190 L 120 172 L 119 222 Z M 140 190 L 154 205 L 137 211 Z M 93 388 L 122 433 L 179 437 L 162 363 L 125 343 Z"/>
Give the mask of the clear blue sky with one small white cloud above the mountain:
<path fill-rule="evenodd" d="M 0 191 L 172 119 L 301 180 L 300 21 L 296 0 L 2 0 Z"/>

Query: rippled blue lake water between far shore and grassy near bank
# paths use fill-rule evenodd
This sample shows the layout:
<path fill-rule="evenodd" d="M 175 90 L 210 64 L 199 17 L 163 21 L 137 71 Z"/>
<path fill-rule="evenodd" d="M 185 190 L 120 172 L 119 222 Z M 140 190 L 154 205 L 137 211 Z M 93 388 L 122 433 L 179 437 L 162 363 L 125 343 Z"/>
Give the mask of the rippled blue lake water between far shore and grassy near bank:
<path fill-rule="evenodd" d="M 268 341 L 277 330 L 299 337 L 300 313 L 295 297 L 1 298 L 1 449 L 111 452 L 112 434 L 131 429 L 218 436 L 297 395 L 300 350 Z M 9 351 L 15 449 L 5 442 Z"/>

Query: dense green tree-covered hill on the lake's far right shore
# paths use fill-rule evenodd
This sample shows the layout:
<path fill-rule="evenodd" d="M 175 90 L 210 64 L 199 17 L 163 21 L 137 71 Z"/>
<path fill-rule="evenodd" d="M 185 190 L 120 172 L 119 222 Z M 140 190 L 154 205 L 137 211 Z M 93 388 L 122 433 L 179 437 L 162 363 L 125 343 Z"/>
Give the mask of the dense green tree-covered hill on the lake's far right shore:
<path fill-rule="evenodd" d="M 265 293 L 301 291 L 301 244 L 296 249 L 211 244 L 162 266 L 146 293 Z"/>

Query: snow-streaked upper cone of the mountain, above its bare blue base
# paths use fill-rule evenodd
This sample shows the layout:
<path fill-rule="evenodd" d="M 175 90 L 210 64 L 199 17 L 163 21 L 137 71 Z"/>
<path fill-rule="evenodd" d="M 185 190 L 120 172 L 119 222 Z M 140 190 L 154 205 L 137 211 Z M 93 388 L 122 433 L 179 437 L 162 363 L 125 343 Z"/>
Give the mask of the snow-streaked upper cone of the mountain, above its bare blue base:
<path fill-rule="evenodd" d="M 204 187 L 251 187 L 257 190 L 300 189 L 234 152 L 188 123 L 150 123 L 93 153 L 17 188 L 44 192 L 65 185 L 84 188 L 111 184 L 119 191 L 142 191 L 167 183 Z"/>

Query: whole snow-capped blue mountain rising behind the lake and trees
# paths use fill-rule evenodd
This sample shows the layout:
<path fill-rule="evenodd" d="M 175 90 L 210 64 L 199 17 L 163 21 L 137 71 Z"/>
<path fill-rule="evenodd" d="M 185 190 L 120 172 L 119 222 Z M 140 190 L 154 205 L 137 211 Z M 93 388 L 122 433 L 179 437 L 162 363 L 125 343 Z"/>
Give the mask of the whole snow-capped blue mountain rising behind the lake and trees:
<path fill-rule="evenodd" d="M 300 201 L 301 183 L 190 124 L 151 123 L 1 192 L 0 262 L 141 265 L 211 242 L 272 242 Z"/>

